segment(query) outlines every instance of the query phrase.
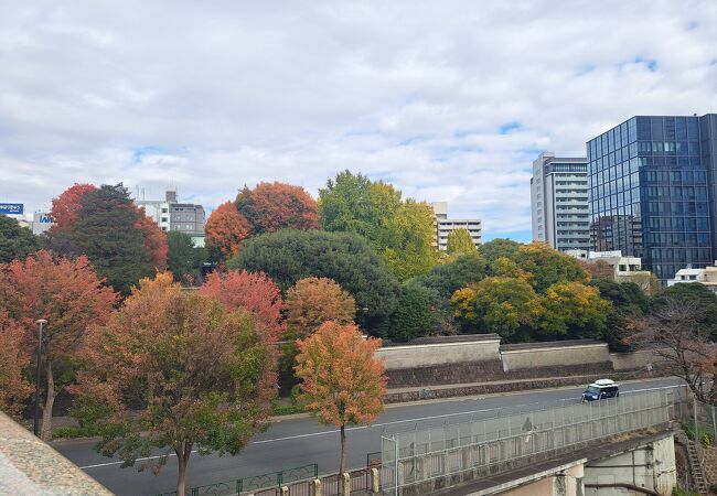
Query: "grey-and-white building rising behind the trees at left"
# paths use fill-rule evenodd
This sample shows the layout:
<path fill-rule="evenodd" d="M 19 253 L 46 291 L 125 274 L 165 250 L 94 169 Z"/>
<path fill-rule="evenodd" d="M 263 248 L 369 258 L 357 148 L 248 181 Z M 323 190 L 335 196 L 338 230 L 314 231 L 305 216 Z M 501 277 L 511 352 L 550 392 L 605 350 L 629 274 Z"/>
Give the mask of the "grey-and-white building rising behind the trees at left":
<path fill-rule="evenodd" d="M 179 203 L 176 190 L 169 190 L 164 200 L 136 200 L 148 217 L 162 230 L 180 230 L 189 235 L 203 235 L 206 222 L 204 207 L 193 203 Z"/>

